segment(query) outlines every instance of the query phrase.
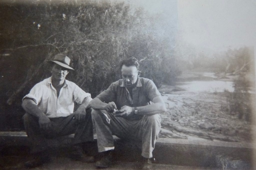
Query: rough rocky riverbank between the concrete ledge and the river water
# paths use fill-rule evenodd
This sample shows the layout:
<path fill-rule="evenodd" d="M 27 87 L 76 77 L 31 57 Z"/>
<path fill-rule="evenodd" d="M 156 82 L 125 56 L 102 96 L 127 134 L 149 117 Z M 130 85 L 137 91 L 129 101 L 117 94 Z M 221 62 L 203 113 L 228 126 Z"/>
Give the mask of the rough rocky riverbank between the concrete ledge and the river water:
<path fill-rule="evenodd" d="M 229 113 L 225 92 L 189 92 L 167 85 L 159 91 L 167 107 L 159 137 L 251 141 L 256 126 Z"/>

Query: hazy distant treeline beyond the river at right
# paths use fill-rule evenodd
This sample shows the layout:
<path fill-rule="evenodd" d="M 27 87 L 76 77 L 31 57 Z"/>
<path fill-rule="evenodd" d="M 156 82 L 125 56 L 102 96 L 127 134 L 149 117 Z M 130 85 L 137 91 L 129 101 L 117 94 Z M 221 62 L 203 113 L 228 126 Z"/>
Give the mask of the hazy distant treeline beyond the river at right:
<path fill-rule="evenodd" d="M 223 75 L 254 73 L 253 47 L 229 49 L 207 55 L 194 53 L 193 46 L 183 45 L 176 49 L 177 65 L 180 70 L 216 72 Z"/>

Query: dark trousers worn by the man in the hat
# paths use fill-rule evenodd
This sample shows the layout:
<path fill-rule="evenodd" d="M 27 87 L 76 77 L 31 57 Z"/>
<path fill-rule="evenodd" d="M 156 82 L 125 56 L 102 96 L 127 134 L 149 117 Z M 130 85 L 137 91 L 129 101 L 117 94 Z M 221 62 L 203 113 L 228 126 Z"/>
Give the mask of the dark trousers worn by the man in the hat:
<path fill-rule="evenodd" d="M 52 128 L 48 131 L 39 127 L 38 118 L 26 113 L 23 116 L 24 126 L 31 143 L 30 152 L 36 153 L 49 149 L 54 139 L 74 133 L 72 144 L 93 141 L 91 112 L 86 112 L 86 119 L 79 123 L 74 114 L 67 117 L 50 118 Z"/>

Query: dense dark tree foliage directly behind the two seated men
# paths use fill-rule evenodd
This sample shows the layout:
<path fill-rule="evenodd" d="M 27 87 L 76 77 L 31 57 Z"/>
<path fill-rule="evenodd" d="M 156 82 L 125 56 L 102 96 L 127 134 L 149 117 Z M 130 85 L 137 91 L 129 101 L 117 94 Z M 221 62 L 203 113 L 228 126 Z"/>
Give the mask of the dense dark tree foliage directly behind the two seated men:
<path fill-rule="evenodd" d="M 58 53 L 69 56 L 75 69 L 67 79 L 92 97 L 121 78 L 118 64 L 129 56 L 158 87 L 173 83 L 175 35 L 158 31 L 159 16 L 123 2 L 24 2 L 0 5 L 1 129 L 23 127 L 22 97 L 50 76 L 46 61 Z"/>

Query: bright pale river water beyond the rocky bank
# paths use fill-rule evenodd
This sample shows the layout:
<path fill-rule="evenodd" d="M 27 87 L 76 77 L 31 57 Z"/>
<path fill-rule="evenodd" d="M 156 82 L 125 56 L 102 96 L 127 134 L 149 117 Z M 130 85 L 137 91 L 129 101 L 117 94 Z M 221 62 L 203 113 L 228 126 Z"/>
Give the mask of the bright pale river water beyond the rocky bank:
<path fill-rule="evenodd" d="M 177 82 L 176 87 L 191 92 L 223 92 L 234 91 L 233 81 L 218 80 L 217 76 L 211 72 L 195 72 L 179 76 L 181 81 Z"/>

